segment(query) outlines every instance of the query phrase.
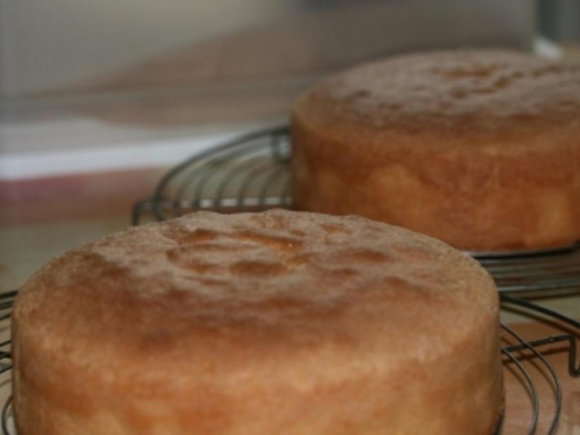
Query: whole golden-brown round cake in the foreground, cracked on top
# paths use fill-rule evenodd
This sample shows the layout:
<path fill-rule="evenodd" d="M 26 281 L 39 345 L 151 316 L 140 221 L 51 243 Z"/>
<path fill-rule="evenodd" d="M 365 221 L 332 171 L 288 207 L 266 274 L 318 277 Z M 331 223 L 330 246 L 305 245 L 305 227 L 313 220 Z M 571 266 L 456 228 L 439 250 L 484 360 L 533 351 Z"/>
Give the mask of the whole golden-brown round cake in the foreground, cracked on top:
<path fill-rule="evenodd" d="M 19 435 L 491 435 L 498 296 L 358 217 L 194 213 L 53 260 L 14 307 Z"/>

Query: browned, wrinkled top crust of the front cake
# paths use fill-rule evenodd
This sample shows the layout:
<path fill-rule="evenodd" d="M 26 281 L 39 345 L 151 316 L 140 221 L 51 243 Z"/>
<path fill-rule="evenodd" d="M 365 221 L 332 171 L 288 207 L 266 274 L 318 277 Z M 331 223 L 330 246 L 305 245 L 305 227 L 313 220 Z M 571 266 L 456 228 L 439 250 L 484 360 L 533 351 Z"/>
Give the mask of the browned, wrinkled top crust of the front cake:
<path fill-rule="evenodd" d="M 419 353 L 460 340 L 497 304 L 487 273 L 443 242 L 273 210 L 192 213 L 86 244 L 37 272 L 14 311 L 20 334 L 42 331 L 79 364 L 98 349 L 207 365 L 385 340 L 396 360 L 409 340 Z"/>

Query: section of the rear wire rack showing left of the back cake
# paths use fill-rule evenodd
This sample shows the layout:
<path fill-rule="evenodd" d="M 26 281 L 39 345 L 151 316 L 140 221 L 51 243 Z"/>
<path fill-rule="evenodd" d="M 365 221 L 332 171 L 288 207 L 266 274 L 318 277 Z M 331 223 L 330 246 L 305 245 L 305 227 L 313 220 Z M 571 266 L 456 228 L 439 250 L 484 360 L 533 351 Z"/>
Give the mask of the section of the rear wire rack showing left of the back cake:
<path fill-rule="evenodd" d="M 194 155 L 168 171 L 150 199 L 133 209 L 133 224 L 189 211 L 222 213 L 291 206 L 287 126 L 249 133 Z"/>

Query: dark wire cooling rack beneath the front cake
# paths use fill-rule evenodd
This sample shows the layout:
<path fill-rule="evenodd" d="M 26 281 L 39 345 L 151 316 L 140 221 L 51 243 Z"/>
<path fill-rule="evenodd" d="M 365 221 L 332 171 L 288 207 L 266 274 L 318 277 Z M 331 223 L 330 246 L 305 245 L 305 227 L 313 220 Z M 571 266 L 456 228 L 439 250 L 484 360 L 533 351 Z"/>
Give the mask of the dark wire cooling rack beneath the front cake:
<path fill-rule="evenodd" d="M 16 291 L 0 293 L 0 320 L 3 322 L 6 322 L 10 318 L 12 303 L 14 302 L 16 293 Z M 580 322 L 562 316 L 560 313 L 550 309 L 539 307 L 527 300 L 514 298 L 508 294 L 502 294 L 501 300 L 503 309 L 516 307 L 519 310 L 525 311 L 530 316 L 545 316 L 550 321 L 559 322 L 559 325 L 562 325 L 564 329 L 569 328 L 573 330 L 573 332 L 569 333 L 530 340 L 521 337 L 513 329 L 502 325 L 503 338 L 509 342 L 509 344 L 506 344 L 501 349 L 501 353 L 505 358 L 504 364 L 513 365 L 516 371 L 521 374 L 522 382 L 519 383 L 518 388 L 525 390 L 524 393 L 529 396 L 530 421 L 528 423 L 527 434 L 539 434 L 539 421 L 542 417 L 542 421 L 548 421 L 548 424 L 543 428 L 545 432 L 541 432 L 541 434 L 553 435 L 556 433 L 562 413 L 563 394 L 561 380 L 550 361 L 548 361 L 548 358 L 541 353 L 540 349 L 557 343 L 566 343 L 568 346 L 568 371 L 571 376 L 580 376 L 580 367 L 577 364 L 577 340 L 575 338 L 577 334 L 580 334 Z M 2 349 L 0 351 L 0 374 L 6 376 L 6 374 L 10 374 L 9 372 L 12 368 L 10 340 L 1 342 L 0 348 Z M 526 367 L 526 360 L 530 356 L 541 365 L 541 371 L 531 371 L 528 368 L 529 366 Z M 541 394 L 539 392 L 538 384 L 545 381 L 546 376 L 548 376 L 552 394 Z M 8 396 L 9 389 L 10 384 L 8 382 L 0 384 L 0 392 L 6 393 L 5 396 Z M 510 393 L 508 391 L 508 395 Z M 548 405 L 545 405 L 546 403 Z M 549 413 L 550 415 L 546 416 L 545 413 Z M 512 416 L 509 413 L 501 418 L 495 432 L 496 435 L 510 435 L 504 430 L 504 426 L 510 422 L 510 418 Z M 16 435 L 10 397 L 3 404 L 1 429 L 3 435 Z"/>

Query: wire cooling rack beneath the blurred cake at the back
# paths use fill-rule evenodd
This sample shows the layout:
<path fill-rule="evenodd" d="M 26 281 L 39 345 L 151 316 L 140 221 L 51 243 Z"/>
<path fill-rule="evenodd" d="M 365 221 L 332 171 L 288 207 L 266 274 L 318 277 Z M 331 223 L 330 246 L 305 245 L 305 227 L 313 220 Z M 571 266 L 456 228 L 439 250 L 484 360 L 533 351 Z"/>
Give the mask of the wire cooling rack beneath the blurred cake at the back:
<path fill-rule="evenodd" d="M 197 210 L 222 213 L 291 207 L 289 128 L 244 135 L 194 155 L 168 171 L 150 198 L 133 209 L 133 224 Z M 562 293 L 580 289 L 580 247 L 551 251 L 470 253 L 509 293 Z"/>

